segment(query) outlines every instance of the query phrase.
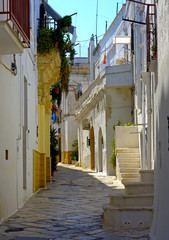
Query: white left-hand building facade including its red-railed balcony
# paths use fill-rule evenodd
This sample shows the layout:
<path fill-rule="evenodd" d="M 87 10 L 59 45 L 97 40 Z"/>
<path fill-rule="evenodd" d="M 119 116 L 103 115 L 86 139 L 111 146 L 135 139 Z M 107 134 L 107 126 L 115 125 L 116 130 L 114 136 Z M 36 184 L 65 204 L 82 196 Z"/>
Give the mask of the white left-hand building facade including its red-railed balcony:
<path fill-rule="evenodd" d="M 0 222 L 32 195 L 38 147 L 35 2 L 9 3 L 0 6 Z"/>

